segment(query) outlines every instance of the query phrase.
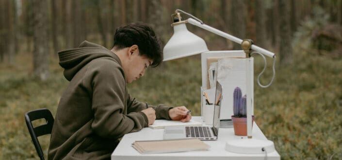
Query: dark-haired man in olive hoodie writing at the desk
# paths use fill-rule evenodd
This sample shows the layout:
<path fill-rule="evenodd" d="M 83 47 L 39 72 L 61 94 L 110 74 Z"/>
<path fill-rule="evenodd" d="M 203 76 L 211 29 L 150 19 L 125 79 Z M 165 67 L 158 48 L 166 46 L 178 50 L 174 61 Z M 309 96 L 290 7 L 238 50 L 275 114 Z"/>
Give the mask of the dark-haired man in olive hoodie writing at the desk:
<path fill-rule="evenodd" d="M 49 160 L 110 159 L 126 133 L 155 119 L 191 119 L 186 107 L 149 106 L 128 94 L 128 83 L 163 60 L 160 40 L 146 24 L 118 28 L 112 50 L 84 41 L 58 54 L 70 83 L 55 116 Z"/>

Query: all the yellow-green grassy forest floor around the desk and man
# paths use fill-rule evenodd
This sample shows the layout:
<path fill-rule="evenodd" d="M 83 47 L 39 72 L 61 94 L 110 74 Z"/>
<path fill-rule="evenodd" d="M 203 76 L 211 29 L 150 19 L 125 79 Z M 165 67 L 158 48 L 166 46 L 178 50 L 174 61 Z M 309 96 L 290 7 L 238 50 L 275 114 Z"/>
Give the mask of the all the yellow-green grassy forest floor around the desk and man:
<path fill-rule="evenodd" d="M 254 88 L 256 123 L 275 142 L 283 160 L 342 160 L 342 59 L 295 51 L 293 64 L 279 66 L 271 87 Z M 31 54 L 18 54 L 16 65 L 0 64 L 0 159 L 37 160 L 24 113 L 49 108 L 55 115 L 68 82 L 51 58 L 50 78 L 31 76 Z M 255 76 L 263 67 L 255 58 Z M 261 82 L 272 75 L 270 66 Z M 187 106 L 200 115 L 201 68 L 198 56 L 149 68 L 129 92 L 149 104 Z M 75 115 L 77 116 L 77 115 Z M 39 138 L 45 155 L 49 136 Z"/>

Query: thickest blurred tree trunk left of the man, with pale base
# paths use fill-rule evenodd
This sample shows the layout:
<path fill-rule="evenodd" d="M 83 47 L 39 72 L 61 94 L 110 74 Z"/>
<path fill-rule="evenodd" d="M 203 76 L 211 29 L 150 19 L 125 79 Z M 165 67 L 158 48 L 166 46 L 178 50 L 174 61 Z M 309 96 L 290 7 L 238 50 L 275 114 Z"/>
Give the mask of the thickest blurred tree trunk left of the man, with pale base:
<path fill-rule="evenodd" d="M 33 74 L 40 80 L 49 78 L 48 1 L 32 0 L 33 7 Z"/>

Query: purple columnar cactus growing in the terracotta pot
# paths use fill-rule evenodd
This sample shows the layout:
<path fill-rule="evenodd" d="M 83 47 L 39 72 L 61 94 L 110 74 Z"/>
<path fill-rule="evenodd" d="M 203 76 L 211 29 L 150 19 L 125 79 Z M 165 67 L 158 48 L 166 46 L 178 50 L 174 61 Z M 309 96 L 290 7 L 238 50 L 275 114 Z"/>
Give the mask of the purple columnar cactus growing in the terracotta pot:
<path fill-rule="evenodd" d="M 239 87 L 236 87 L 233 93 L 233 112 L 234 117 L 246 117 L 246 95 L 242 96 Z"/>

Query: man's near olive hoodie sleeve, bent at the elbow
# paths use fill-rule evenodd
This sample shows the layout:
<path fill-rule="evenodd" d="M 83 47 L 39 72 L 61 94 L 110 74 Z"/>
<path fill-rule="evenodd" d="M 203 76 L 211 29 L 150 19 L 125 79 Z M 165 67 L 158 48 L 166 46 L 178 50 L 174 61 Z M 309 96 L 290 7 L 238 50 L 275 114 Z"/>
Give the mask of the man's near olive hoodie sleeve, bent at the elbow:
<path fill-rule="evenodd" d="M 102 137 L 120 138 L 124 134 L 148 126 L 143 112 L 125 115 L 126 82 L 119 65 L 110 60 L 99 60 L 89 66 L 84 84 L 92 90 L 92 128 Z M 88 82 L 86 82 L 88 81 Z"/>

